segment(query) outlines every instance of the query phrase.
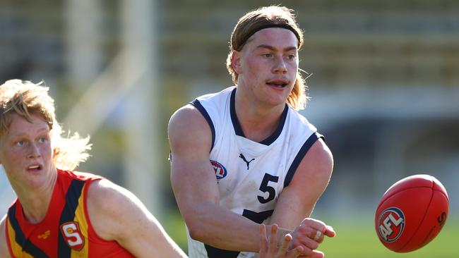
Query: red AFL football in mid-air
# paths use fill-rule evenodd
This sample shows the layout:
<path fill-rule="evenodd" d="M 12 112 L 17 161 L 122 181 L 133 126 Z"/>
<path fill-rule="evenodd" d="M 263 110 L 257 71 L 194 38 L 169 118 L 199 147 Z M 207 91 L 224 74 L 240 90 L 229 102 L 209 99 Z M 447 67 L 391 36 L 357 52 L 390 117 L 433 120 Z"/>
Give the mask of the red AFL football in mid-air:
<path fill-rule="evenodd" d="M 448 193 L 433 176 L 403 178 L 384 193 L 376 208 L 378 238 L 394 252 L 417 250 L 440 233 L 448 206 Z"/>

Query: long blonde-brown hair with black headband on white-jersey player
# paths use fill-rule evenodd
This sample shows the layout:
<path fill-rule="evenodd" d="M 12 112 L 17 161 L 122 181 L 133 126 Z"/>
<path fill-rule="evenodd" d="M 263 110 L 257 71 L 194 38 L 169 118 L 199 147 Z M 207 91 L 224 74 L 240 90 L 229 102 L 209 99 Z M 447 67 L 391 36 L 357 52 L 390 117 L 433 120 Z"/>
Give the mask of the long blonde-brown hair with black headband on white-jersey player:
<path fill-rule="evenodd" d="M 303 32 L 294 18 L 293 10 L 283 6 L 266 6 L 246 13 L 239 19 L 231 34 L 229 42 L 229 54 L 227 56 L 227 70 L 232 80 L 237 84 L 239 75 L 232 67 L 232 55 L 234 51 L 242 51 L 249 38 L 258 30 L 266 27 L 282 27 L 290 30 L 298 39 L 298 49 L 303 45 Z M 297 72 L 297 80 L 292 92 L 287 98 L 287 103 L 294 109 L 304 109 L 309 97 L 306 95 L 306 81 Z"/>

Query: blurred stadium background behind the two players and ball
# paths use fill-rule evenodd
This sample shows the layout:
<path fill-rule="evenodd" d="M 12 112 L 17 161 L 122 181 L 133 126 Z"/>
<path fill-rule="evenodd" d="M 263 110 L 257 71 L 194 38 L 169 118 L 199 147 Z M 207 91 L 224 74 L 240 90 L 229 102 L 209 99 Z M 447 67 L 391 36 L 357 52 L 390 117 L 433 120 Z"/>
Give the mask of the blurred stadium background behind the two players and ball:
<path fill-rule="evenodd" d="M 232 85 L 232 27 L 268 4 L 297 12 L 300 67 L 313 73 L 303 113 L 335 155 L 313 214 L 338 231 L 323 245 L 328 257 L 459 257 L 458 1 L 2 0 L 0 80 L 46 82 L 64 128 L 92 137 L 78 170 L 136 193 L 186 250 L 167 121 L 193 97 Z M 378 243 L 374 209 L 416 173 L 443 182 L 450 216 L 423 250 L 394 254 Z M 1 214 L 13 199 L 0 173 Z"/>

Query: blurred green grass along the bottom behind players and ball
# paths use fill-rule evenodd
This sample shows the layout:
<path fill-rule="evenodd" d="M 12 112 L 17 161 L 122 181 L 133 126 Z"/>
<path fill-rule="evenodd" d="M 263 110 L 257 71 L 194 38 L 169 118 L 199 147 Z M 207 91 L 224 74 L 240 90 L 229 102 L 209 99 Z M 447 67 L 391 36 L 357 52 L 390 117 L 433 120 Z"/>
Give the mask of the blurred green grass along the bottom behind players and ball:
<path fill-rule="evenodd" d="M 337 233 L 319 248 L 327 258 L 458 258 L 459 218 L 448 218 L 440 234 L 420 250 L 396 253 L 379 242 L 371 218 L 361 221 L 339 221 L 327 219 Z M 165 230 L 186 251 L 186 233 L 180 214 L 170 214 L 162 221 Z"/>

